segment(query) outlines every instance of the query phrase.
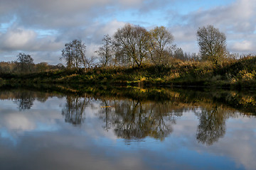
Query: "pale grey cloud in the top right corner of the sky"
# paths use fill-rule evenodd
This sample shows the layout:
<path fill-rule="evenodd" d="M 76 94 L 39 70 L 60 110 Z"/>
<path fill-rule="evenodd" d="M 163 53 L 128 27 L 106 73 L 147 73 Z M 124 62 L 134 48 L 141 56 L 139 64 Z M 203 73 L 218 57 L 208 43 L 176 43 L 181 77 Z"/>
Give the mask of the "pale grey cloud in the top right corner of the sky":
<path fill-rule="evenodd" d="M 182 19 L 187 21 L 189 25 L 205 26 L 214 25 L 225 30 L 254 31 L 255 29 L 255 11 L 256 1 L 238 0 L 228 6 L 216 6 L 214 8 L 203 10 L 199 8 L 197 11 L 188 13 Z M 254 22 L 251 22 L 254 21 Z"/>

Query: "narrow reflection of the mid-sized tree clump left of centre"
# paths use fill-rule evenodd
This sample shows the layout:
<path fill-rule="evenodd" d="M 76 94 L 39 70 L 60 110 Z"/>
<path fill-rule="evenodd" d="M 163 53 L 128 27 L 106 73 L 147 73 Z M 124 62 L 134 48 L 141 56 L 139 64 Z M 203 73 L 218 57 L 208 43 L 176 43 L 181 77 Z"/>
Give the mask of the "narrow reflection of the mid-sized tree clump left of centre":
<path fill-rule="evenodd" d="M 90 102 L 89 98 L 79 96 L 67 96 L 67 103 L 63 108 L 62 115 L 65 116 L 65 122 L 73 125 L 80 125 L 85 119 L 85 106 Z"/>

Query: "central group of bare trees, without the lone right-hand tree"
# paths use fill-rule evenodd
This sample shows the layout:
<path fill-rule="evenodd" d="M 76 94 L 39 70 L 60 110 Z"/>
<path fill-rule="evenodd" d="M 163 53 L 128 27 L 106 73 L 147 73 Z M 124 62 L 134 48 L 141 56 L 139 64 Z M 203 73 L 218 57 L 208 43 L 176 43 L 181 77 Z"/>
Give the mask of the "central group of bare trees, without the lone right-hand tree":
<path fill-rule="evenodd" d="M 95 51 L 97 57 L 87 57 L 85 52 L 85 43 L 73 40 L 65 44 L 60 60 L 65 60 L 68 69 L 88 68 L 95 63 L 100 67 L 141 67 L 142 64 L 168 66 L 174 59 L 199 60 L 196 53 L 189 54 L 176 47 L 174 35 L 164 26 L 146 30 L 127 24 L 112 37 L 104 36 L 102 46 Z"/>

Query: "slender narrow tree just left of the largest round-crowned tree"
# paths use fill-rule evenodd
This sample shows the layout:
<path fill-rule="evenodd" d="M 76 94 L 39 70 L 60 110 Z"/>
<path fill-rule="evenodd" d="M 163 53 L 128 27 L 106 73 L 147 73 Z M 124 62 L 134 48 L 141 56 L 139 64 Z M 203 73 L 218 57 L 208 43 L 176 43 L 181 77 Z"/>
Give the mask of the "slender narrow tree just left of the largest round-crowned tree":
<path fill-rule="evenodd" d="M 102 39 L 103 45 L 99 48 L 99 50 L 95 51 L 97 55 L 100 57 L 100 62 L 102 63 L 103 67 L 106 67 L 110 64 L 113 56 L 113 48 L 112 48 L 112 40 L 110 35 L 104 35 Z"/>

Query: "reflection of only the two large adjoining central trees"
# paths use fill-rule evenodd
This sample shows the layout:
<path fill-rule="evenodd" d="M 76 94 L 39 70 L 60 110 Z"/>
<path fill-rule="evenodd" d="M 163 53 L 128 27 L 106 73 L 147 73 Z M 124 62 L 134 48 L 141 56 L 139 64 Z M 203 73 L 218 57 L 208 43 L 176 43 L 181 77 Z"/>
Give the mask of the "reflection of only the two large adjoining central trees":
<path fill-rule="evenodd" d="M 146 136 L 163 140 L 172 132 L 171 124 L 175 118 L 165 110 L 163 103 L 142 103 L 129 101 L 117 106 L 121 119 L 116 122 L 119 137 L 130 139 Z"/>

